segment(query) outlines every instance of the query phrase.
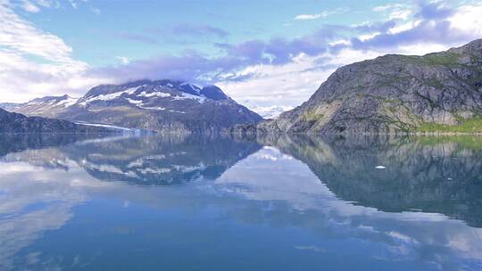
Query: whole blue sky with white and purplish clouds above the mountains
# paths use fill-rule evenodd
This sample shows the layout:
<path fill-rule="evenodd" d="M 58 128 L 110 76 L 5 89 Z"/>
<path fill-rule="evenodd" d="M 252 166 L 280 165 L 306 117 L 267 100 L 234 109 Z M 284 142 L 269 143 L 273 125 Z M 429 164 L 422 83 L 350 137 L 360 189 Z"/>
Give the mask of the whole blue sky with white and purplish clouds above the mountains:
<path fill-rule="evenodd" d="M 482 0 L 0 0 L 0 102 L 168 78 L 287 110 L 340 66 L 482 38 L 481 14 Z"/>

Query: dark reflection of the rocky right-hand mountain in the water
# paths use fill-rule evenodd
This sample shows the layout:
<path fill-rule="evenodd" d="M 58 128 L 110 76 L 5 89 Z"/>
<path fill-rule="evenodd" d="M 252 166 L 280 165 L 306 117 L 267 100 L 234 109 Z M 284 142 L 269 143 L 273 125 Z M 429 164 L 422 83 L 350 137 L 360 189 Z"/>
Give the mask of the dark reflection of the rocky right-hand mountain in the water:
<path fill-rule="evenodd" d="M 482 138 L 281 136 L 260 141 L 302 160 L 345 201 L 389 212 L 441 213 L 482 227 Z"/>

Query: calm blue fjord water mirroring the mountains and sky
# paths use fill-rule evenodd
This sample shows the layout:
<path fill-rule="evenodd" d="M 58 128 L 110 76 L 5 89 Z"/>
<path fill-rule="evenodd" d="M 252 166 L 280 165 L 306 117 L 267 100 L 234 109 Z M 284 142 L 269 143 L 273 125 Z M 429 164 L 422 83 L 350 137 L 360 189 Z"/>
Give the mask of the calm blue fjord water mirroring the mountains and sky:
<path fill-rule="evenodd" d="M 0 270 L 481 268 L 480 137 L 0 140 Z"/>

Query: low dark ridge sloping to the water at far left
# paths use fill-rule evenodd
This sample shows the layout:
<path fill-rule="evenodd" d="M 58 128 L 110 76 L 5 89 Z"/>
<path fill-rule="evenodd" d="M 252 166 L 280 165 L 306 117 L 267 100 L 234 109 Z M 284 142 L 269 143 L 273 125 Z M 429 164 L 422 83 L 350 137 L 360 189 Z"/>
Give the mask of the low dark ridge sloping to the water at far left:
<path fill-rule="evenodd" d="M 0 133 L 88 133 L 108 132 L 112 129 L 103 127 L 86 127 L 71 121 L 26 117 L 0 109 Z"/>

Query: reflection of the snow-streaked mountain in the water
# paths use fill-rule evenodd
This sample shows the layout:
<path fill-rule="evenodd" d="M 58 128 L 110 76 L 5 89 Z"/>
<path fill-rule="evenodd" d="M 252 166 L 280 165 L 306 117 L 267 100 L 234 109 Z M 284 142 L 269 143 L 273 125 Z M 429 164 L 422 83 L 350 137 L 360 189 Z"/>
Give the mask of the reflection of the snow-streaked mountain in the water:
<path fill-rule="evenodd" d="M 52 144 L 54 139 L 49 139 L 48 143 Z M 69 139 L 76 142 L 74 144 L 65 144 L 63 136 L 57 139 L 57 148 L 11 154 L 4 161 L 28 161 L 44 168 L 65 170 L 69 169 L 69 162 L 75 162 L 76 166 L 103 181 L 171 185 L 220 177 L 237 160 L 261 148 L 254 142 L 220 136 L 120 136 L 88 140 L 71 136 Z M 8 146 L 16 150 L 29 143 L 19 140 L 17 146 Z"/>

